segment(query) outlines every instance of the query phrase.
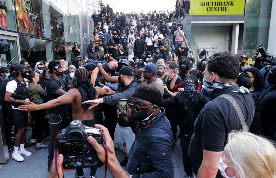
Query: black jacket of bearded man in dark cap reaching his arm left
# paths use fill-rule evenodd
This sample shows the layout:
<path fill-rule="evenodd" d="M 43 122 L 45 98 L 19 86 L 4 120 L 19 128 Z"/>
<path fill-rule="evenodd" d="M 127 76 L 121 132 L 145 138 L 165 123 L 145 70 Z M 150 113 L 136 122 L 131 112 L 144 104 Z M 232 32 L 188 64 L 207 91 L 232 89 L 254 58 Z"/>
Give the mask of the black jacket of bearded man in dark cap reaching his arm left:
<path fill-rule="evenodd" d="M 133 81 L 128 85 L 121 87 L 116 94 L 104 96 L 104 104 L 107 105 L 118 105 L 119 99 L 127 99 L 127 103 L 132 102 L 133 91 L 141 86 L 141 81 L 134 77 Z M 129 127 L 129 123 L 122 118 L 117 118 L 118 124 L 122 127 Z"/>

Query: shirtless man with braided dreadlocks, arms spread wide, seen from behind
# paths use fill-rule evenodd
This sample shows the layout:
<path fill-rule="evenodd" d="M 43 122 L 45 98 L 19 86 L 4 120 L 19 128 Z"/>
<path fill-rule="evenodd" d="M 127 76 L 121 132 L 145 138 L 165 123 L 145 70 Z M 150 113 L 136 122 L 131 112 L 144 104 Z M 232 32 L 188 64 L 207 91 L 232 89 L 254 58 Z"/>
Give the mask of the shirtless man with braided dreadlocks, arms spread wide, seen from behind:
<path fill-rule="evenodd" d="M 94 108 L 88 109 L 91 104 L 81 103 L 87 100 L 98 99 L 99 95 L 105 95 L 108 91 L 104 88 L 93 87 L 90 79 L 88 79 L 87 70 L 84 68 L 78 68 L 75 75 L 77 84 L 64 95 L 41 105 L 28 102 L 30 104 L 22 105 L 20 110 L 25 111 L 26 109 L 26 111 L 34 111 L 39 109 L 49 109 L 72 102 L 74 108 L 72 115 L 73 120 L 80 120 L 85 126 L 94 127 Z M 90 168 L 90 170 L 90 177 L 95 177 L 97 168 Z M 84 177 L 83 168 L 77 169 L 75 175 L 76 177 Z"/>

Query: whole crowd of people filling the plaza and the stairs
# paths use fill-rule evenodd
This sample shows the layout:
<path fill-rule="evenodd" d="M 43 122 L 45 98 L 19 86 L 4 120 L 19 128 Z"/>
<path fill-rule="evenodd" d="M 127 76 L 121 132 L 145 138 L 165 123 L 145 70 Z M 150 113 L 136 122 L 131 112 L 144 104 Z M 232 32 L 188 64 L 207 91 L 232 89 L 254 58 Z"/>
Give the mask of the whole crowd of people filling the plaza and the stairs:
<path fill-rule="evenodd" d="M 103 130 L 109 149 L 114 152 L 115 147 L 125 155 L 119 163 L 108 152 L 113 177 L 174 177 L 177 137 L 184 178 L 275 177 L 276 62 L 272 55 L 257 52 L 254 63 L 248 64 L 246 55 L 225 51 L 210 56 L 202 50 L 194 59 L 182 25 L 176 25 L 168 11 L 147 16 L 104 12 L 103 7 L 92 16 L 95 38 L 87 48 L 88 58 L 80 56 L 74 43 L 68 48 L 76 53 L 72 62 L 40 61 L 31 70 L 28 61 L 21 60 L 0 68 L 12 158 L 23 161 L 22 155 L 31 156 L 26 149 L 30 145 L 48 148 L 49 177 L 57 177 L 55 136 L 70 121 L 80 120 Z M 127 100 L 126 116 L 118 114 L 120 99 Z M 48 145 L 43 143 L 44 133 Z M 87 140 L 104 162 L 104 147 L 93 137 Z M 59 158 L 57 169 L 61 170 L 62 155 Z M 127 166 L 127 172 L 121 166 Z M 90 177 L 96 171 L 91 167 Z M 83 169 L 78 168 L 75 175 L 84 177 Z"/>

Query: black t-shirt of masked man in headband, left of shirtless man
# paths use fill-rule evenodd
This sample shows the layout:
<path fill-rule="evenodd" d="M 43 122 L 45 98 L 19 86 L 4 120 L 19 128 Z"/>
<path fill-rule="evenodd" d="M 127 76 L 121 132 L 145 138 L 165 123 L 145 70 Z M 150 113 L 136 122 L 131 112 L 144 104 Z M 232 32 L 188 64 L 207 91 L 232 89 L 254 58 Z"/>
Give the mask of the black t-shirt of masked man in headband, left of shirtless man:
<path fill-rule="evenodd" d="M 57 99 L 60 95 L 55 94 L 55 92 L 58 89 L 62 89 L 65 91 L 65 88 L 67 86 L 68 84 L 66 84 L 63 79 L 59 78 L 59 80 L 56 80 L 53 76 L 51 76 L 46 85 L 47 101 Z M 47 109 L 49 113 L 64 113 L 67 110 L 67 105 L 60 105 L 51 109 Z"/>

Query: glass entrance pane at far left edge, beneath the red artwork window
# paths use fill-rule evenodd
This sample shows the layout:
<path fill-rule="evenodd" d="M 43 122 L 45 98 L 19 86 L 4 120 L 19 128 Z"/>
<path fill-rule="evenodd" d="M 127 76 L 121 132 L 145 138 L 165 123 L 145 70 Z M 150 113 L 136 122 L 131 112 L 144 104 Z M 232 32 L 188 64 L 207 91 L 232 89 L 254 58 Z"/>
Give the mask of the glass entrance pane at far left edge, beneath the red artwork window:
<path fill-rule="evenodd" d="M 0 35 L 1 67 L 8 67 L 18 61 L 17 42 L 8 36 Z"/>

